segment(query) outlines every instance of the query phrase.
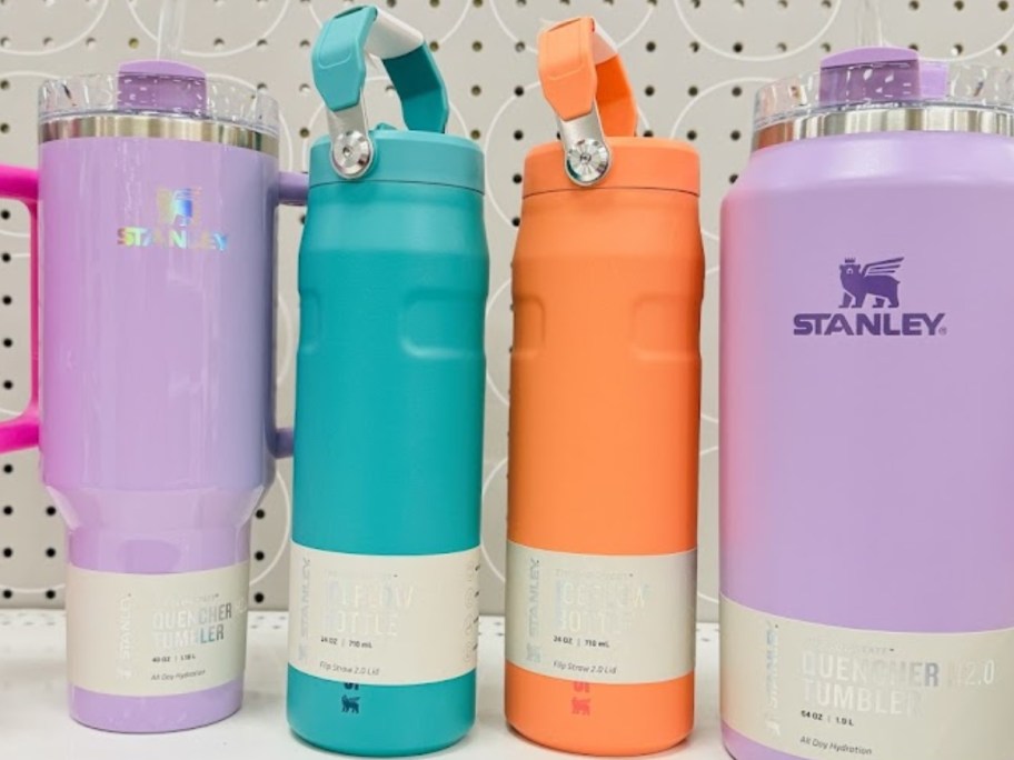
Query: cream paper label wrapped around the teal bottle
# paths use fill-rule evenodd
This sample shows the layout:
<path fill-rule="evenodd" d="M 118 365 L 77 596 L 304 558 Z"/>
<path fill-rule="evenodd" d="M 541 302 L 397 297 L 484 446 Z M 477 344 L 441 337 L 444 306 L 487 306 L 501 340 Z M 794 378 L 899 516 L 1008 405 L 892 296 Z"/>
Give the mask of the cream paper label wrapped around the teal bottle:
<path fill-rule="evenodd" d="M 292 543 L 289 663 L 356 684 L 435 683 L 475 670 L 479 549 L 375 556 Z"/>

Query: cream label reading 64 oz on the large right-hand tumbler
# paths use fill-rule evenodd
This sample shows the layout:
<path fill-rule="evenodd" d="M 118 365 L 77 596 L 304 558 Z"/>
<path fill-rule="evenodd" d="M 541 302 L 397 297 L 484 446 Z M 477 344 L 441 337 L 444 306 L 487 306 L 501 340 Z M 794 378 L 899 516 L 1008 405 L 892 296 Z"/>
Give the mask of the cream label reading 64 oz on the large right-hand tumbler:
<path fill-rule="evenodd" d="M 1014 629 L 884 633 L 722 600 L 722 714 L 808 760 L 1010 760 Z"/>

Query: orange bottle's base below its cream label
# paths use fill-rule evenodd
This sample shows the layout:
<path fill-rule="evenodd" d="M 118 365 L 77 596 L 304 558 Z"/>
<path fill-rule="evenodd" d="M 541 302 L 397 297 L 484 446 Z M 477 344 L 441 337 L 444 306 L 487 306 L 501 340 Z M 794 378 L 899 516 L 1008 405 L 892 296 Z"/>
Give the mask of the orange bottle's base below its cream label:
<path fill-rule="evenodd" d="M 543 747 L 597 757 L 653 754 L 694 728 L 694 674 L 660 683 L 568 681 L 507 663 L 507 722 Z"/>

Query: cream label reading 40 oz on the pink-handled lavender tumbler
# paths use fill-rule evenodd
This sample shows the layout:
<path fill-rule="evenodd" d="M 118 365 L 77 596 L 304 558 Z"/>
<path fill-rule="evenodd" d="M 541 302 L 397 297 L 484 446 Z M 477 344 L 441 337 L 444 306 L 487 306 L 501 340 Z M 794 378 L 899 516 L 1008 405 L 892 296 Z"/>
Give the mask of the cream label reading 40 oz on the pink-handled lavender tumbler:
<path fill-rule="evenodd" d="M 119 697 L 212 689 L 242 676 L 248 562 L 127 574 L 67 567 L 70 682 Z"/>

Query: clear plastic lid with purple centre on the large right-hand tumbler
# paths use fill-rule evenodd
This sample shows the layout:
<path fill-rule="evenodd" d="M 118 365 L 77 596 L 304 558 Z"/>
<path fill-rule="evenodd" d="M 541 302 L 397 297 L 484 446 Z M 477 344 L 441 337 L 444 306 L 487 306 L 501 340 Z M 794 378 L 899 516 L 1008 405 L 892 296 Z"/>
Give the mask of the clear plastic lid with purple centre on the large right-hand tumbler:
<path fill-rule="evenodd" d="M 859 48 L 817 72 L 760 88 L 755 130 L 837 111 L 956 107 L 1014 112 L 1014 71 L 924 60 L 907 48 Z"/>

